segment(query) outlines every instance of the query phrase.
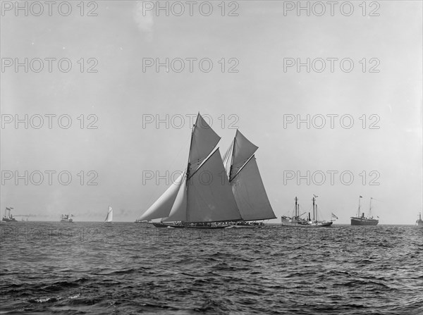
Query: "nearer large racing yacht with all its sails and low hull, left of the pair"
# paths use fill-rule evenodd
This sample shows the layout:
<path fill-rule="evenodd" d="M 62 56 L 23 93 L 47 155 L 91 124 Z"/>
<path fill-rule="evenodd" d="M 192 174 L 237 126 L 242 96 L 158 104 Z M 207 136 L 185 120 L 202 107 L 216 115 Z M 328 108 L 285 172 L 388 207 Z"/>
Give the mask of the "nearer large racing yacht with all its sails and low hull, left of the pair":
<path fill-rule="evenodd" d="M 225 168 L 219 148 L 214 149 L 219 140 L 199 113 L 192 128 L 185 171 L 140 221 L 160 218 L 161 223 L 153 223 L 158 228 L 225 228 L 222 222 L 242 219 L 231 185 L 221 180 Z"/>

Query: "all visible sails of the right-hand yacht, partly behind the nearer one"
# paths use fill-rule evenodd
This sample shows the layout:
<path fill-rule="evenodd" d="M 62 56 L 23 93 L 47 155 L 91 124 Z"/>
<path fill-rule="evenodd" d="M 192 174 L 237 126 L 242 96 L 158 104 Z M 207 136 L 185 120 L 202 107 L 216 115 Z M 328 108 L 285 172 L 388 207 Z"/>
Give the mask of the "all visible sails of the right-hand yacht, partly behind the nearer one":
<path fill-rule="evenodd" d="M 238 130 L 226 152 L 226 173 L 244 221 L 276 218 L 254 156 L 258 149 Z"/>

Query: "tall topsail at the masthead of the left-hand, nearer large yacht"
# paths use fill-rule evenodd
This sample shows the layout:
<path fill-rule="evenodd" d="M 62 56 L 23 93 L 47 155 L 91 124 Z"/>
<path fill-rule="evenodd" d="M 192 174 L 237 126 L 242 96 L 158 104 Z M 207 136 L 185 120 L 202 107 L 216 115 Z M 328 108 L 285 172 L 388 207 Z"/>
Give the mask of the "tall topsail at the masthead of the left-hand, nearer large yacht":
<path fill-rule="evenodd" d="M 219 135 L 207 124 L 200 113 L 195 122 L 195 128 L 192 131 L 190 148 L 190 170 L 188 174 L 194 173 L 202 161 L 209 156 L 219 142 Z"/>

